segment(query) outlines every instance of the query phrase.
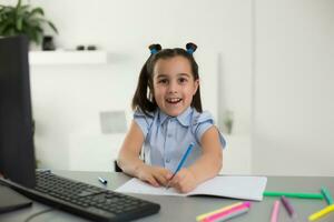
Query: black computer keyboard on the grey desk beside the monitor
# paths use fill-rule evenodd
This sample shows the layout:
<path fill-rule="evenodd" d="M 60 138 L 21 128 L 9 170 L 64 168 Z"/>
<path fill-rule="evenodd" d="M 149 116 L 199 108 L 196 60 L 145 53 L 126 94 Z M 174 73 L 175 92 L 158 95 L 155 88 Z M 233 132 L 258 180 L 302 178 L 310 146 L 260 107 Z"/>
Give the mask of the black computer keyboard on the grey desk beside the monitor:
<path fill-rule="evenodd" d="M 130 195 L 37 172 L 31 199 L 94 221 L 130 221 L 155 214 L 160 205 Z"/>

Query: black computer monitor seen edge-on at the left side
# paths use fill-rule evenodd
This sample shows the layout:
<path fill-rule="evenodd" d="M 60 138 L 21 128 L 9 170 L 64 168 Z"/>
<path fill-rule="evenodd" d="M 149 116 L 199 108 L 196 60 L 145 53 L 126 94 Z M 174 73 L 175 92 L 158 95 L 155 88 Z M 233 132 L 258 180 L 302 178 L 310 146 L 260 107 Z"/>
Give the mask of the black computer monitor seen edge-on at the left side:
<path fill-rule="evenodd" d="M 0 173 L 35 186 L 28 38 L 0 38 Z"/>

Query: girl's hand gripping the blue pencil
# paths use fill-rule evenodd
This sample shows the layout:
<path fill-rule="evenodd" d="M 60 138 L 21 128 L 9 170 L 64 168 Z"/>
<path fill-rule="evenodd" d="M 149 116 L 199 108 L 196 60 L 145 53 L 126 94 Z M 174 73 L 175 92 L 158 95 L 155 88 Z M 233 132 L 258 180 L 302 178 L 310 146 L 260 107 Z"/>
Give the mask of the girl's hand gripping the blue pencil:
<path fill-rule="evenodd" d="M 197 186 L 197 180 L 190 170 L 184 168 L 176 173 L 169 185 L 181 193 L 187 193 Z"/>

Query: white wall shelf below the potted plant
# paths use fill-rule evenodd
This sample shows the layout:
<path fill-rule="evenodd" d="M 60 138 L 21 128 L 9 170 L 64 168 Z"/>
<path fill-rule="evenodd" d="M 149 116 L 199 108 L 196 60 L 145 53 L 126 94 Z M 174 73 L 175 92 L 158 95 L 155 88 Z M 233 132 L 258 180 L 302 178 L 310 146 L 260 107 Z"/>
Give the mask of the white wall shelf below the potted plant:
<path fill-rule="evenodd" d="M 107 52 L 96 51 L 30 51 L 31 65 L 45 64 L 106 64 Z"/>

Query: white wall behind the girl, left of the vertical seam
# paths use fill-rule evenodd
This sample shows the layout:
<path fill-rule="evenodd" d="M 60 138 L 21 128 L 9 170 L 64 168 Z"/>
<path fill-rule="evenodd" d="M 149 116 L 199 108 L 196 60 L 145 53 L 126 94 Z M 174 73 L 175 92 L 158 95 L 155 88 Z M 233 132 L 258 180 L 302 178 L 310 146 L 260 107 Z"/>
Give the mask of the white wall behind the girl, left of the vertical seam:
<path fill-rule="evenodd" d="M 105 170 L 111 168 L 121 135 L 101 134 L 99 112 L 129 108 L 139 70 L 149 53 L 147 46 L 153 42 L 167 48 L 196 42 L 205 109 L 217 119 L 224 110 L 233 110 L 235 133 L 249 134 L 249 0 L 30 2 L 41 6 L 59 29 L 58 47 L 97 44 L 109 53 L 105 65 L 31 67 L 41 167 L 86 170 L 96 163 Z M 233 147 L 230 143 L 229 149 Z M 249 144 L 245 149 L 250 153 Z M 104 160 L 98 159 L 101 155 Z M 249 162 L 250 157 L 244 159 Z"/>

